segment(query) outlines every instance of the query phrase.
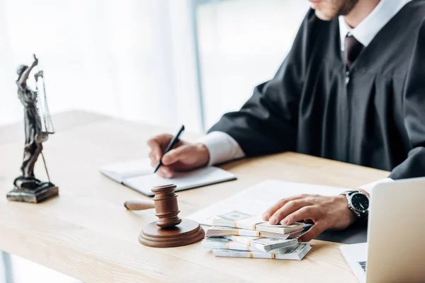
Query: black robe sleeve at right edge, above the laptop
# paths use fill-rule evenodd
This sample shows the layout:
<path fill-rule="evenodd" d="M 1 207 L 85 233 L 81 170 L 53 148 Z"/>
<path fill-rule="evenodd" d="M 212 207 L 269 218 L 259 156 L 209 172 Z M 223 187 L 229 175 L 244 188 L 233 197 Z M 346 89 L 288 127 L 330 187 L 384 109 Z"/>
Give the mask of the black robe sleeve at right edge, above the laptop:
<path fill-rule="evenodd" d="M 421 23 L 418 40 L 404 93 L 404 126 L 412 149 L 408 157 L 395 167 L 390 178 L 404 179 L 425 176 L 425 20 Z"/>

